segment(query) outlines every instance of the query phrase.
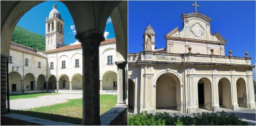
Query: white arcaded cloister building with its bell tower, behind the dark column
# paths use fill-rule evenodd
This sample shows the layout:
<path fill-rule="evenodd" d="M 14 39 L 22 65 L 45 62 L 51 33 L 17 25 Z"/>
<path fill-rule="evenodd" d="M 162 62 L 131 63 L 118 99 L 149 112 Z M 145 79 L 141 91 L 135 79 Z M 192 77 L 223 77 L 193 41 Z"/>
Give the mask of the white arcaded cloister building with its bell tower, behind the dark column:
<path fill-rule="evenodd" d="M 46 18 L 46 51 L 11 42 L 8 63 L 10 94 L 82 93 L 81 44 L 64 46 L 64 19 L 53 5 Z M 100 43 L 100 93 L 117 94 L 115 38 Z"/>

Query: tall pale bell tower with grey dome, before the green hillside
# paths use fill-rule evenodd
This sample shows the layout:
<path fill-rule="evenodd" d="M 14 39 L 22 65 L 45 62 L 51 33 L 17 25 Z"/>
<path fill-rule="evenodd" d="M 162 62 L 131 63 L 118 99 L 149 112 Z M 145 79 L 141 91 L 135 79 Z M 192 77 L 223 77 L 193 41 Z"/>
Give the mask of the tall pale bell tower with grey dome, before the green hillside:
<path fill-rule="evenodd" d="M 45 21 L 45 48 L 46 50 L 56 49 L 64 46 L 64 19 L 53 4 L 53 10 L 46 17 Z"/>

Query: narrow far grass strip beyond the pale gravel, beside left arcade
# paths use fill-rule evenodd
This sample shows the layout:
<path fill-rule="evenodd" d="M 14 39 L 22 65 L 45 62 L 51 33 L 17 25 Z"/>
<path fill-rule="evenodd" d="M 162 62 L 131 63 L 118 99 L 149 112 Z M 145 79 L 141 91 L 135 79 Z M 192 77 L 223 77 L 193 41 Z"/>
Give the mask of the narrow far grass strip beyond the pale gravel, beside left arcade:
<path fill-rule="evenodd" d="M 45 96 L 45 95 L 56 95 L 58 93 L 31 93 L 31 94 L 13 94 L 10 95 L 10 100 L 14 99 L 28 99 L 28 98 L 35 98 L 39 96 Z"/>

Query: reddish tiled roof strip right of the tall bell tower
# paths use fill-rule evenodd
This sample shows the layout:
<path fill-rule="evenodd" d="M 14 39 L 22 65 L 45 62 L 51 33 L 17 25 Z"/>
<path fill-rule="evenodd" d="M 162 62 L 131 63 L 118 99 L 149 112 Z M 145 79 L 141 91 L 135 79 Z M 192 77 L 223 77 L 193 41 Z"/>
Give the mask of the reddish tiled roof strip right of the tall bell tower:
<path fill-rule="evenodd" d="M 111 38 L 111 39 L 107 39 L 105 41 L 100 42 L 100 44 L 108 44 L 108 43 L 114 43 L 115 42 L 115 38 Z M 78 49 L 78 48 L 82 48 L 81 44 L 77 44 L 77 45 L 69 45 L 69 46 L 65 46 L 65 47 L 60 47 L 57 49 L 51 49 L 51 50 L 47 50 L 44 51 L 45 53 L 51 53 L 51 52 L 60 52 L 60 51 L 65 51 L 65 50 L 71 50 L 71 49 Z"/>

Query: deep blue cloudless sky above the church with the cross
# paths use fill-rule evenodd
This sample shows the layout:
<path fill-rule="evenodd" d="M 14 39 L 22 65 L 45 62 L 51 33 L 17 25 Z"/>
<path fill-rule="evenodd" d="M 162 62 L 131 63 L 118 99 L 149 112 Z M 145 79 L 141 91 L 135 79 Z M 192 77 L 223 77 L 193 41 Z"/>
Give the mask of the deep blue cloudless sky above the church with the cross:
<path fill-rule="evenodd" d="M 164 36 L 179 26 L 182 30 L 182 13 L 195 11 L 194 1 L 129 1 L 128 52 L 143 50 L 143 33 L 150 25 L 156 33 L 156 47 L 166 47 Z M 211 33 L 216 31 L 227 40 L 225 55 L 245 57 L 249 52 L 255 64 L 255 1 L 197 1 L 197 11 L 209 18 Z"/>

